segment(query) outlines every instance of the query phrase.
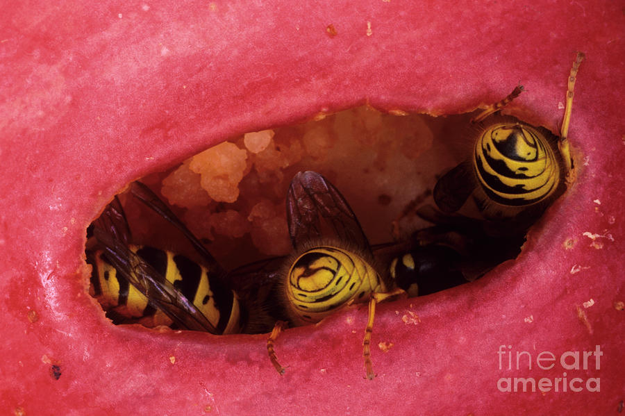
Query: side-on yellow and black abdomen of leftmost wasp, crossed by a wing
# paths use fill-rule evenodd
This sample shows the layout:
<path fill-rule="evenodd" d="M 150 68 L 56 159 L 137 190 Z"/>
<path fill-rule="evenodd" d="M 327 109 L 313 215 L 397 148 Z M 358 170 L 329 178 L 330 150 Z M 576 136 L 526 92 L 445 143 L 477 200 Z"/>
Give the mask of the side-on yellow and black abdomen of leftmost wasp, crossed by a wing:
<path fill-rule="evenodd" d="M 152 247 L 129 247 L 153 269 L 173 283 L 184 297 L 192 301 L 210 321 L 217 333 L 238 333 L 241 329 L 241 311 L 237 297 L 206 267 L 185 256 Z M 128 320 L 151 320 L 151 326 L 171 325 L 172 320 L 149 304 L 148 299 L 106 261 L 102 251 L 88 258 L 92 265 L 91 292 L 103 309 L 112 310 Z"/>

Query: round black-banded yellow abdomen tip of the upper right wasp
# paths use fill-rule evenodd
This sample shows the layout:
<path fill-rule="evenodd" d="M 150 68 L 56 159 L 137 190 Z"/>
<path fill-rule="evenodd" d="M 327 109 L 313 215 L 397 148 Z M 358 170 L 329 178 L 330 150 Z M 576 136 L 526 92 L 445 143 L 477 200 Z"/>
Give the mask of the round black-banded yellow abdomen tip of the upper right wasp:
<path fill-rule="evenodd" d="M 500 123 L 476 141 L 474 168 L 485 194 L 506 206 L 527 206 L 553 194 L 560 165 L 544 132 L 522 123 Z"/>

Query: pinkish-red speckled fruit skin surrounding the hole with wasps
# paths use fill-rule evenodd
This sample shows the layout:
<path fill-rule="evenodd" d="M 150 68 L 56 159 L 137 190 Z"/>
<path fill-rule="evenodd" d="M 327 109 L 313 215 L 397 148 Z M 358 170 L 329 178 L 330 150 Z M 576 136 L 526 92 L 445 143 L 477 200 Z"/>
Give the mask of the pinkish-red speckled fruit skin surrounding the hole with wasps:
<path fill-rule="evenodd" d="M 333 24 L 337 35 L 326 33 Z M 0 408 L 16 415 L 615 415 L 625 399 L 625 16 L 614 1 L 32 1 L 0 16 Z M 460 113 L 501 99 L 569 138 L 578 180 L 516 262 L 481 281 L 278 339 L 113 326 L 91 299 L 85 228 L 126 183 L 224 138 L 365 101 Z M 402 317 L 413 317 L 414 323 Z M 375 347 L 392 342 L 386 353 Z M 512 351 L 600 368 L 499 369 Z M 503 347 L 506 351 L 507 347 Z M 173 358 L 172 358 L 173 357 Z M 514 361 L 514 358 L 513 358 Z M 524 361 L 522 361 L 524 363 Z M 513 363 L 515 365 L 515 363 Z M 53 367 L 56 366 L 56 367 Z M 501 377 L 600 392 L 500 392 Z M 59 376 L 60 373 L 60 376 Z M 58 377 L 56 377 L 58 376 Z M 58 379 L 57 379 L 58 378 Z M 583 386 L 583 385 L 582 385 Z"/>

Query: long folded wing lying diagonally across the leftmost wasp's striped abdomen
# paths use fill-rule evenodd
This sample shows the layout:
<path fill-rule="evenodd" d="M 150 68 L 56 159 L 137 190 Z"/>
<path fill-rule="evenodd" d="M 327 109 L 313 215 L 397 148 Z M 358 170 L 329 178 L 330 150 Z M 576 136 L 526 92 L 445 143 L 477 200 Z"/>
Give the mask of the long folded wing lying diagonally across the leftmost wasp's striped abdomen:
<path fill-rule="evenodd" d="M 155 308 L 162 310 L 180 328 L 217 333 L 217 328 L 206 316 L 167 281 L 163 274 L 131 251 L 128 244 L 115 238 L 114 233 L 100 228 L 94 229 L 94 236 L 103 249 L 106 260 L 115 267 L 117 273 L 124 276 Z"/>

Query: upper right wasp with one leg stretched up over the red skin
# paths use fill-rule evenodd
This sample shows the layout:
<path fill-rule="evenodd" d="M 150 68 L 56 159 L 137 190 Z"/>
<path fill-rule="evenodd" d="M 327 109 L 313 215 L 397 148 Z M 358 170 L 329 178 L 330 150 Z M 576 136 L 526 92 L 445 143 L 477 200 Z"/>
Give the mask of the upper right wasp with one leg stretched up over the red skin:
<path fill-rule="evenodd" d="M 524 233 L 572 181 L 573 158 L 567 139 L 573 90 L 583 53 L 577 53 L 569 74 L 565 114 L 560 137 L 546 128 L 531 126 L 516 117 L 497 115 L 518 97 L 517 86 L 508 96 L 472 119 L 469 138 L 472 157 L 437 181 L 433 197 L 444 213 L 456 213 L 473 196 L 485 219 Z M 513 224 L 508 219 L 514 219 Z"/>

